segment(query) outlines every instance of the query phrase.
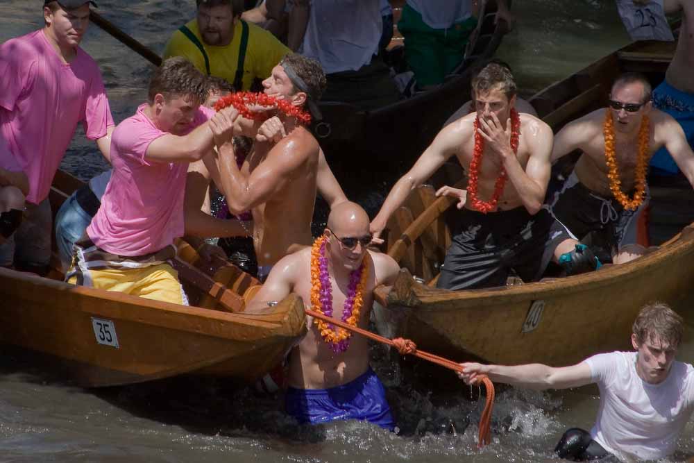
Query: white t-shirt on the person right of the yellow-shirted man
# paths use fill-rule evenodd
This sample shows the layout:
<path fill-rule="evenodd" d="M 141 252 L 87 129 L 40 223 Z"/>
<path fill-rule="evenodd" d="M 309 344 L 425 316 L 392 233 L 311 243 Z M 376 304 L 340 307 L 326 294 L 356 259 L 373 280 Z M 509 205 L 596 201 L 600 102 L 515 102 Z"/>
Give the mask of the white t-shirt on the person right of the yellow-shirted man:
<path fill-rule="evenodd" d="M 357 71 L 378 53 L 379 0 L 311 0 L 310 11 L 299 53 L 318 60 L 325 74 Z"/>

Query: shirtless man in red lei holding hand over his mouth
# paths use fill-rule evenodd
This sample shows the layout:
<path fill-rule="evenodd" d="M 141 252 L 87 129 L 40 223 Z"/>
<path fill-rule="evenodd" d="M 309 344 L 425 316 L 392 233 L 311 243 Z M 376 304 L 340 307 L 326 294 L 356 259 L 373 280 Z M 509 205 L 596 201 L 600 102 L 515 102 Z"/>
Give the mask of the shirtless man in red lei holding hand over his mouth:
<path fill-rule="evenodd" d="M 489 213 L 464 190 L 443 187 L 437 194 L 455 196 L 458 208 L 465 208 L 453 230 L 437 285 L 447 289 L 505 285 L 514 269 L 525 281 L 537 280 L 552 253 L 570 235 L 543 208 L 550 178 L 552 129 L 534 116 L 520 114 L 518 153 L 511 149 L 511 109 L 516 103 L 516 84 L 509 70 L 497 64 L 484 67 L 472 83 L 477 112 L 443 128 L 414 167 L 400 178 L 371 222 L 374 242 L 391 214 L 412 190 L 425 182 L 448 158 L 456 156 L 471 174 L 475 138 L 482 145 L 477 180 L 478 198 L 489 201 L 495 192 L 500 170 L 508 180 L 498 203 L 487 203 Z M 515 112 L 514 112 L 515 113 Z M 475 134 L 473 124 L 479 121 Z M 468 185 L 468 191 L 471 185 Z"/>

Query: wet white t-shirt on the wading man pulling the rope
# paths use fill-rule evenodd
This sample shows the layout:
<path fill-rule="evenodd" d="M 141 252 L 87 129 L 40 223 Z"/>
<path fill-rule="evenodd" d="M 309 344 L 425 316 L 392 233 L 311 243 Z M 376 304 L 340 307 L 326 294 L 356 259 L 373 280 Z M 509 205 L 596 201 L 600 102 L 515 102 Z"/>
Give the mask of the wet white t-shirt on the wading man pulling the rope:
<path fill-rule="evenodd" d="M 668 378 L 651 385 L 636 373 L 636 352 L 598 354 L 585 362 L 600 387 L 593 439 L 623 460 L 671 455 L 694 405 L 694 368 L 672 362 Z"/>

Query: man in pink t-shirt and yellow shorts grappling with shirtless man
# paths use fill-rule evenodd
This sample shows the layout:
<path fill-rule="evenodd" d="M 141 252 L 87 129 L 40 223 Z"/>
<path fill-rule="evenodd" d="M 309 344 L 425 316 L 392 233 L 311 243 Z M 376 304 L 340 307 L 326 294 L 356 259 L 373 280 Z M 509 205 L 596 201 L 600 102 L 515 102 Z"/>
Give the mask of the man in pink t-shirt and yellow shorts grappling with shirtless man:
<path fill-rule="evenodd" d="M 154 71 L 148 101 L 113 132 L 113 174 L 87 236 L 74 246 L 69 283 L 185 303 L 167 261 L 184 233 L 188 164 L 214 146 L 214 111 L 201 106 L 207 96 L 207 78 L 185 58 Z"/>

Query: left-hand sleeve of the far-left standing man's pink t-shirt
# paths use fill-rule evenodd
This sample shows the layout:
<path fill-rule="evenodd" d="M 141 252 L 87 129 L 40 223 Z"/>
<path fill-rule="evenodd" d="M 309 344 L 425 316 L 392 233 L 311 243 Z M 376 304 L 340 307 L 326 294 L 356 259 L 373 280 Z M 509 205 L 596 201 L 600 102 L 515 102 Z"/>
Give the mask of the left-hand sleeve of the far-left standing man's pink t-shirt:
<path fill-rule="evenodd" d="M 0 106 L 15 110 L 15 103 L 33 85 L 36 63 L 24 53 L 23 44 L 8 40 L 0 46 Z"/>

